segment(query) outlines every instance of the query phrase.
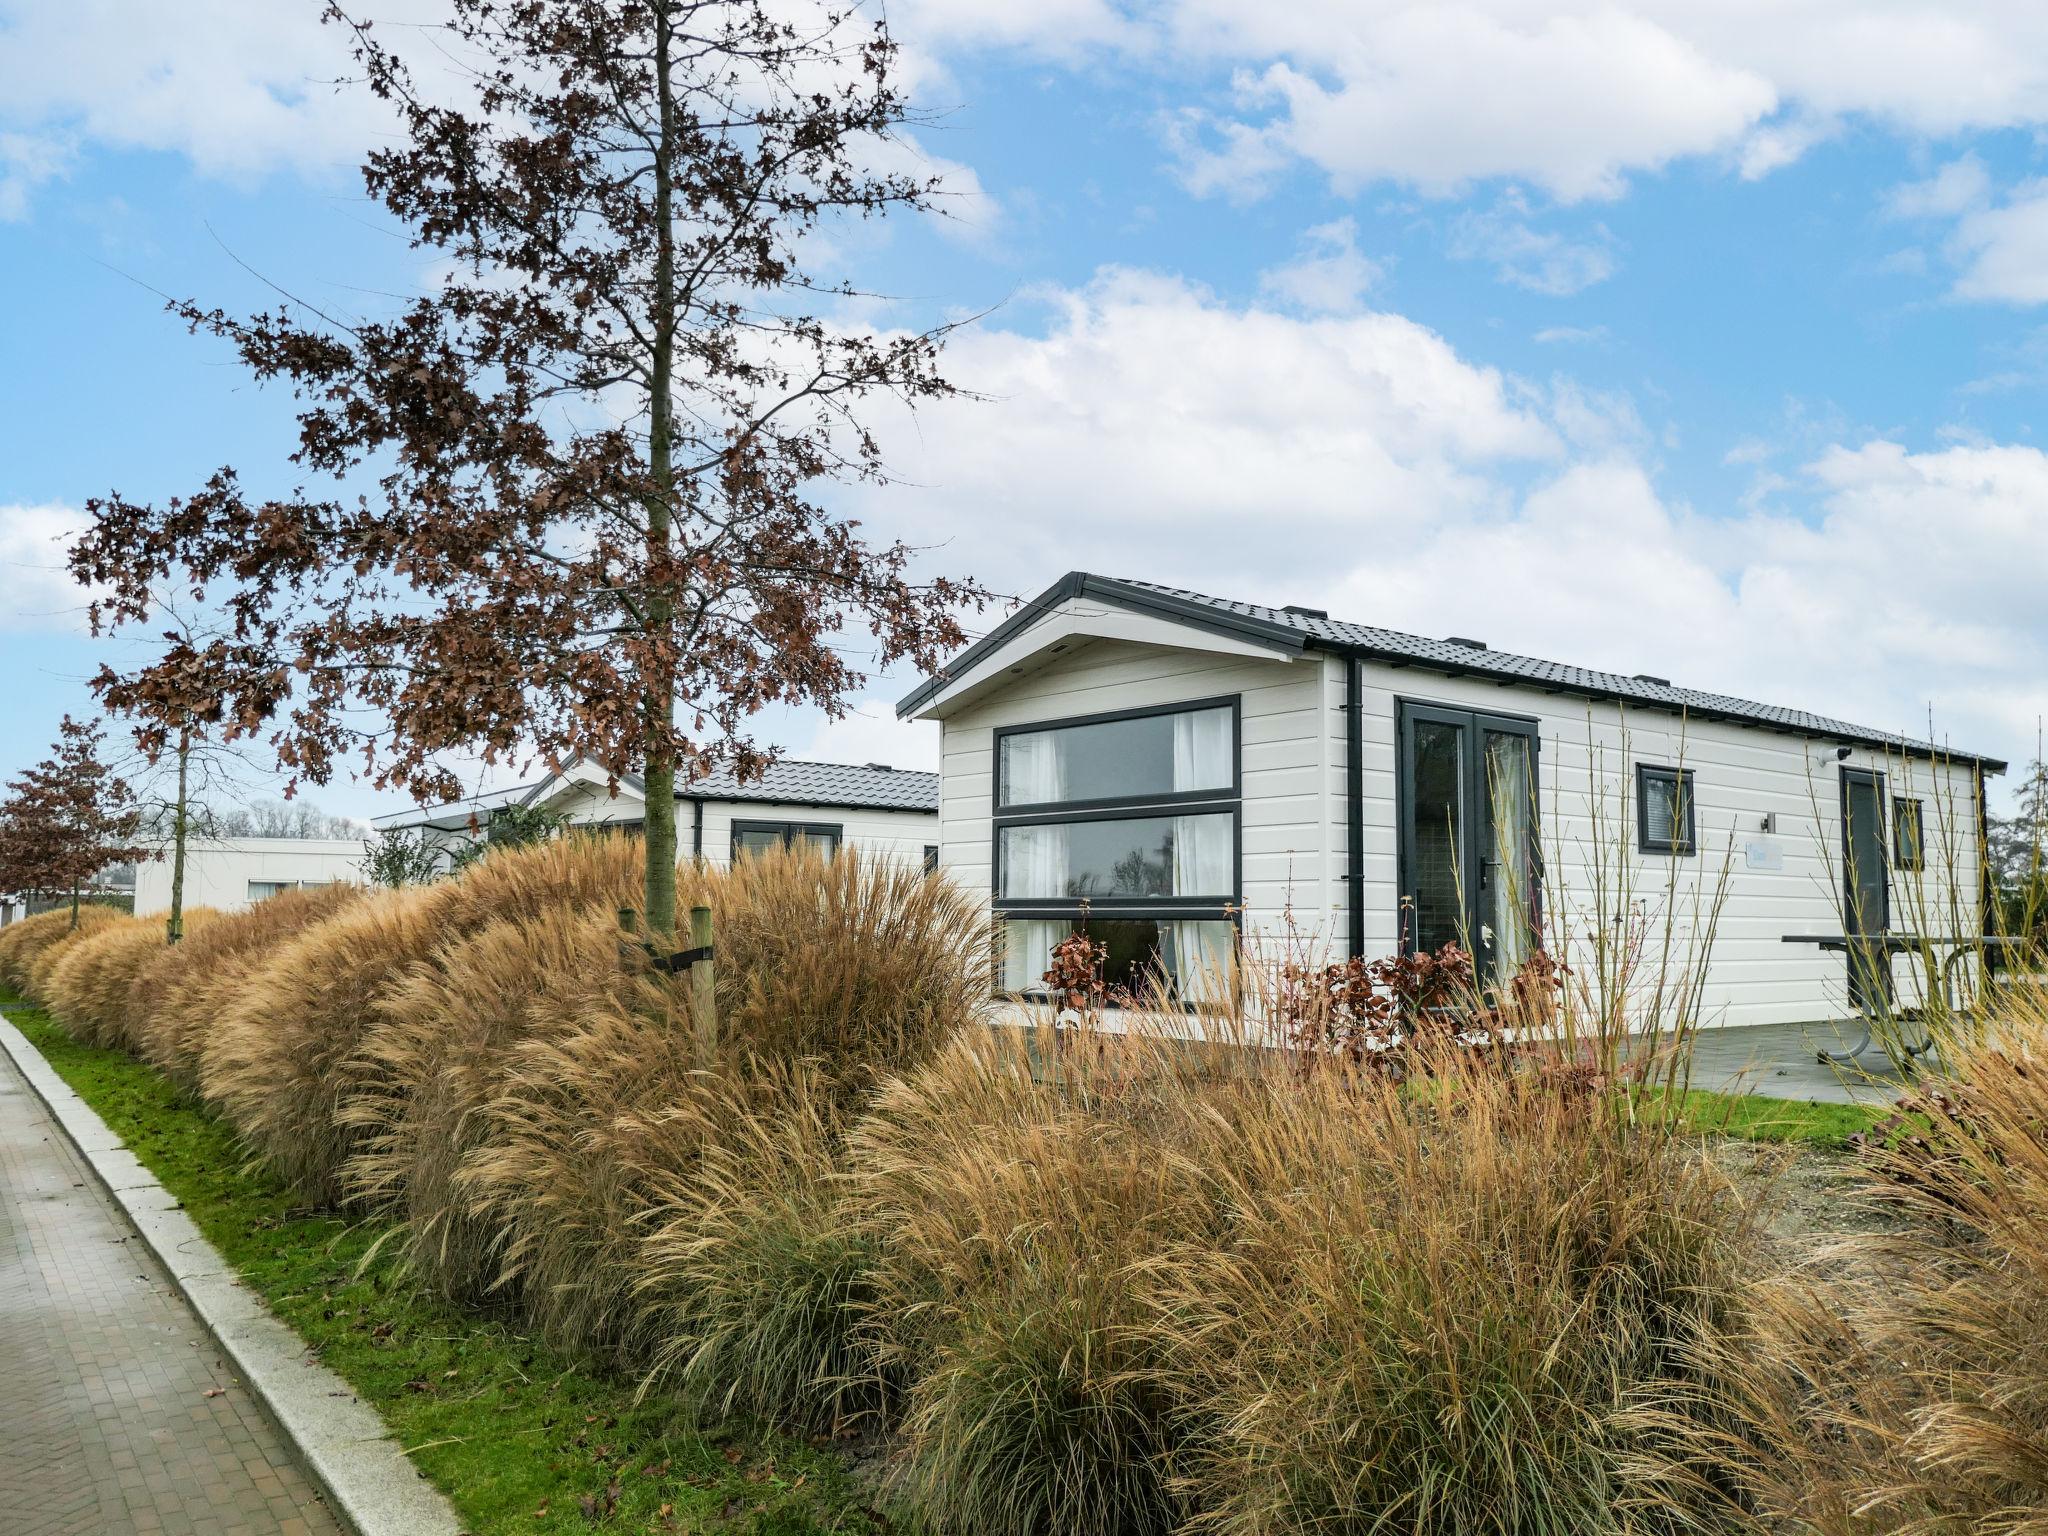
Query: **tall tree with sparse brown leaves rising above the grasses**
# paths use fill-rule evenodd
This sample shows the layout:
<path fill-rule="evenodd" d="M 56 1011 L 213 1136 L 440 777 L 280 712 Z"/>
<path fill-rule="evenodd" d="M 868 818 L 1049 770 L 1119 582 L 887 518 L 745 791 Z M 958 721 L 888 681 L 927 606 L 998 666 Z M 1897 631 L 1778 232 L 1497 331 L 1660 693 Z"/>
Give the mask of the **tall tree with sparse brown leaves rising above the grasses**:
<path fill-rule="evenodd" d="M 825 236 L 938 186 L 897 168 L 893 39 L 829 0 L 453 12 L 453 94 L 326 14 L 399 117 L 365 184 L 436 287 L 373 319 L 174 305 L 293 387 L 303 471 L 373 487 L 262 500 L 223 469 L 166 504 L 109 496 L 72 565 L 100 625 L 145 618 L 166 578 L 207 592 L 231 631 L 106 700 L 211 690 L 295 778 L 360 754 L 455 799 L 453 750 L 637 770 L 645 918 L 672 934 L 678 782 L 760 772 L 758 711 L 842 711 L 852 643 L 932 668 L 979 602 L 825 500 L 885 479 L 864 403 L 952 393 L 942 330 L 834 319 L 852 287 L 817 268 Z"/>

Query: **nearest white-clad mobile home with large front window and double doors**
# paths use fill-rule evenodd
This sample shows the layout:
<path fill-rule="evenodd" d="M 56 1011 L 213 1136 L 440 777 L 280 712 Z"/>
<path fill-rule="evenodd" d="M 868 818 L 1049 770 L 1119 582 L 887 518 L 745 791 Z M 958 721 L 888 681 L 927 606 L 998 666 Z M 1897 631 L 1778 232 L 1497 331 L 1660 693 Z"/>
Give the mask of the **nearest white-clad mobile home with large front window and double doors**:
<path fill-rule="evenodd" d="M 1333 958 L 1456 940 L 1497 977 L 1614 924 L 1704 954 L 1704 1022 L 1829 1018 L 1843 954 L 1786 938 L 1843 934 L 1843 891 L 1851 932 L 1980 932 L 2005 766 L 1081 571 L 899 713 L 940 721 L 940 860 L 987 893 L 1018 991 L 1083 922 L 1112 979 L 1272 952 L 1290 920 Z"/>

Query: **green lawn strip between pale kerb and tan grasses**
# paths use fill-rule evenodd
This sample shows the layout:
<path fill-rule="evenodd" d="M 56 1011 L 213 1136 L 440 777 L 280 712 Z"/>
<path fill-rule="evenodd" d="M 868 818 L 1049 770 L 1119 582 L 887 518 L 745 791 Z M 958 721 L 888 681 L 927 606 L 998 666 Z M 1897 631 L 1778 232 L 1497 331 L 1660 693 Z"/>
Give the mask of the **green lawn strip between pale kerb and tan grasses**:
<path fill-rule="evenodd" d="M 8 1016 L 270 1309 L 377 1405 L 477 1536 L 893 1530 L 831 1448 L 743 1425 L 700 1434 L 659 1397 L 635 1405 L 633 1384 L 582 1374 L 502 1319 L 436 1305 L 387 1266 L 358 1276 L 375 1231 L 295 1208 L 154 1069 L 82 1047 L 39 1012 Z"/>

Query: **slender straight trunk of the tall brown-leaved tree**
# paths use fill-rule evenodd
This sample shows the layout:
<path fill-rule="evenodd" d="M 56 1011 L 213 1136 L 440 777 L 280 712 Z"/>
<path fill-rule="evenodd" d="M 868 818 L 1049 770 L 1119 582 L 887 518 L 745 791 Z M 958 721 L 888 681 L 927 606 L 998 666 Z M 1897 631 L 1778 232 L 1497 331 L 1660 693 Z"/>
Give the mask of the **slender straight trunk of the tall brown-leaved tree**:
<path fill-rule="evenodd" d="M 647 567 L 664 569 L 670 553 L 672 502 L 676 467 L 672 459 L 674 412 L 670 385 L 676 369 L 676 188 L 670 154 L 676 129 L 676 98 L 670 82 L 670 14 L 655 6 L 655 92 L 659 102 L 659 135 L 655 139 L 653 207 L 655 262 L 653 299 L 653 367 L 647 381 L 647 471 L 653 494 L 647 498 Z M 645 664 L 641 670 L 641 721 L 647 741 L 647 934 L 676 936 L 676 600 L 662 582 L 647 584 L 645 596 Z"/>

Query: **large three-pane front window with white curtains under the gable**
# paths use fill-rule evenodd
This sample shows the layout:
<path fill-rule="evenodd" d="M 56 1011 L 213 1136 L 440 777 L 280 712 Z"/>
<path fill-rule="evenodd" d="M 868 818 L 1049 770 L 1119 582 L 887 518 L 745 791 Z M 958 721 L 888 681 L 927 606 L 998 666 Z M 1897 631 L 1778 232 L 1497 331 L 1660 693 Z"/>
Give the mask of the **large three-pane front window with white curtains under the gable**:
<path fill-rule="evenodd" d="M 1237 700 L 995 733 L 995 913 L 1004 989 L 1042 985 L 1077 928 L 1104 975 L 1188 991 L 1237 944 Z"/>

